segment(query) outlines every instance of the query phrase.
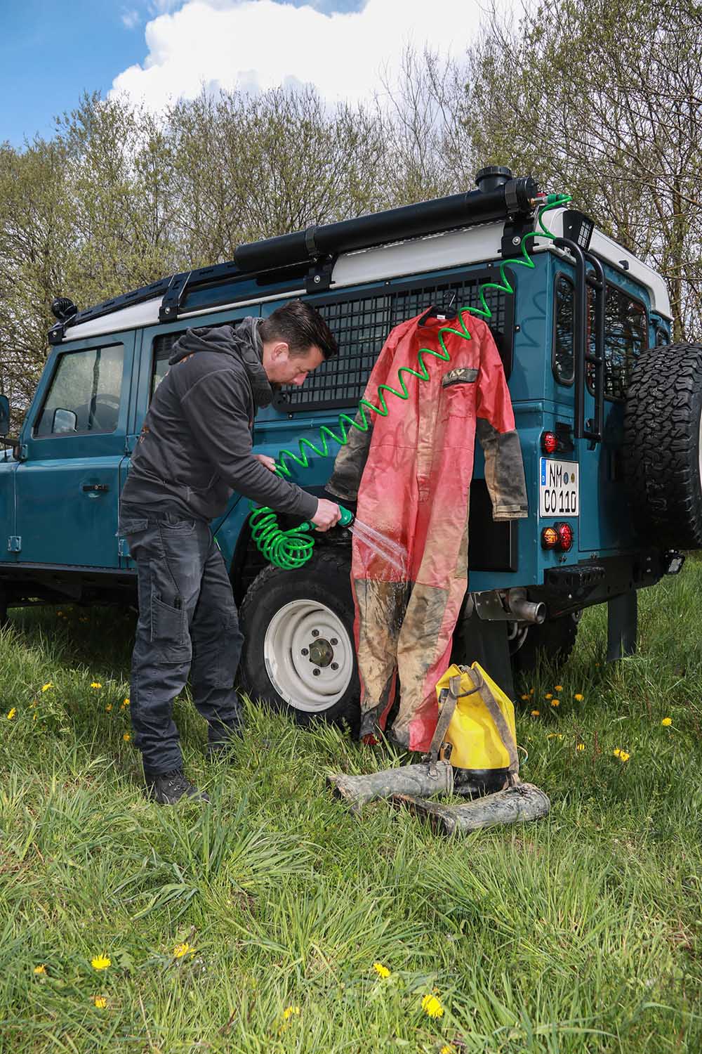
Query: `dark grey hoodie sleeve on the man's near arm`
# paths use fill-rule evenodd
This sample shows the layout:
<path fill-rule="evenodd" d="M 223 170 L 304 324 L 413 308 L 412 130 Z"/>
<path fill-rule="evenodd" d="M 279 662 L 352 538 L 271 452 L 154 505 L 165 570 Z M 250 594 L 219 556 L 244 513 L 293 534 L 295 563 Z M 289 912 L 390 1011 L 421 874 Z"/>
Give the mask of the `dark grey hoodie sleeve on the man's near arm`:
<path fill-rule="evenodd" d="M 244 394 L 229 370 L 207 373 L 181 398 L 193 436 L 238 493 L 277 512 L 312 520 L 318 499 L 264 468 L 254 456 Z"/>

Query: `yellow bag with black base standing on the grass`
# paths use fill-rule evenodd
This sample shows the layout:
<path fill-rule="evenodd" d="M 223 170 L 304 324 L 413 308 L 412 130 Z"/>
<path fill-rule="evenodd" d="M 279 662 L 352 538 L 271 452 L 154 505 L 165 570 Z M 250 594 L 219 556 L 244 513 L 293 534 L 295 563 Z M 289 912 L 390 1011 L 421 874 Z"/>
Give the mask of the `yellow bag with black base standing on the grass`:
<path fill-rule="evenodd" d="M 437 683 L 437 701 L 430 756 L 450 760 L 485 789 L 518 782 L 515 707 L 480 663 L 449 666 Z"/>

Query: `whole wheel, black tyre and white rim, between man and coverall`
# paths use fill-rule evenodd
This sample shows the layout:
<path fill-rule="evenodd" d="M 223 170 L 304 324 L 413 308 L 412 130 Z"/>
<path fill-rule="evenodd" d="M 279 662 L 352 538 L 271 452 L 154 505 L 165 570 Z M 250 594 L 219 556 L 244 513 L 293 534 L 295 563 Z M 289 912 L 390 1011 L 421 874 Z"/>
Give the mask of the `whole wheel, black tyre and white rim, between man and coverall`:
<path fill-rule="evenodd" d="M 347 560 L 314 557 L 303 567 L 267 567 L 241 606 L 241 677 L 254 699 L 313 718 L 358 725 L 360 687 Z"/>

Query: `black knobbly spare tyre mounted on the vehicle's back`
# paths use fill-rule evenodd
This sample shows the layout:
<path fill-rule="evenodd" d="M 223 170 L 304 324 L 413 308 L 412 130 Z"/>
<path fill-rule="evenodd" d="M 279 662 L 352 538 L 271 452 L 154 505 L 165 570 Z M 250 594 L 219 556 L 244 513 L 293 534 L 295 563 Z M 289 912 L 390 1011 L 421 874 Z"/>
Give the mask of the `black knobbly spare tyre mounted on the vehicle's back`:
<path fill-rule="evenodd" d="M 624 482 L 638 533 L 677 549 L 702 548 L 702 345 L 639 356 L 624 412 Z"/>

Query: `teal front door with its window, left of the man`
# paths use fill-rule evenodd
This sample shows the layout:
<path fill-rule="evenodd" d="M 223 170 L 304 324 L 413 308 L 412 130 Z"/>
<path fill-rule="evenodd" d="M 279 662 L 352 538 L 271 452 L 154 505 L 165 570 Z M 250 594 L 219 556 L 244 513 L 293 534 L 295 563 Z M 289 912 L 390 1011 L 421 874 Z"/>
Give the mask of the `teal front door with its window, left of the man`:
<path fill-rule="evenodd" d="M 19 563 L 117 567 L 134 333 L 59 347 L 25 421 L 16 481 Z"/>

